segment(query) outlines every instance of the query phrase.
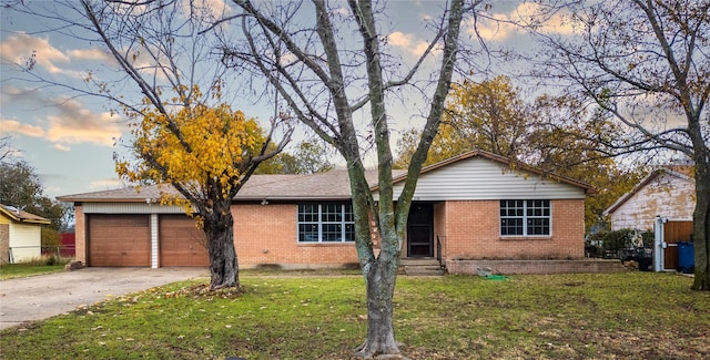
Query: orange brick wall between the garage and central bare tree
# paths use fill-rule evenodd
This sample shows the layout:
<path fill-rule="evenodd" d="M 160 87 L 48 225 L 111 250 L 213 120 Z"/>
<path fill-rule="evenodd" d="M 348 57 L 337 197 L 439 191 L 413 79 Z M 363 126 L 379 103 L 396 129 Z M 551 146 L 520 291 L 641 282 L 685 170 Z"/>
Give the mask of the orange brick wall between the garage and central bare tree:
<path fill-rule="evenodd" d="M 297 205 L 233 205 L 234 244 L 240 265 L 261 264 L 342 265 L 356 264 L 354 243 L 298 244 Z"/>

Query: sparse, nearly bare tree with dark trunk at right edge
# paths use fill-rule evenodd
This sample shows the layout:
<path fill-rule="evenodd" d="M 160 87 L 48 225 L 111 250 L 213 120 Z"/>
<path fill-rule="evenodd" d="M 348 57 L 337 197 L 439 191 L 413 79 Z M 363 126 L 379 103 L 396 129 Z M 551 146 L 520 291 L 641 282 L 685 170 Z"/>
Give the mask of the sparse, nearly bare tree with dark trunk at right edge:
<path fill-rule="evenodd" d="M 608 144 L 618 153 L 666 148 L 694 163 L 692 288 L 710 291 L 710 1 L 540 3 L 572 32 L 535 31 L 538 75 L 626 126 L 628 136 Z"/>

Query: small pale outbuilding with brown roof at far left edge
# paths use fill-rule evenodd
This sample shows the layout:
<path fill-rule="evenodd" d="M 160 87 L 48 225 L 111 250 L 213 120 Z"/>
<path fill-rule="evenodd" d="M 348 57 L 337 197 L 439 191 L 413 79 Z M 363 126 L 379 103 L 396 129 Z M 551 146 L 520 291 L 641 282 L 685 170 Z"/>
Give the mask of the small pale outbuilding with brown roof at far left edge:
<path fill-rule="evenodd" d="M 0 264 L 17 264 L 42 256 L 41 216 L 0 204 Z"/>

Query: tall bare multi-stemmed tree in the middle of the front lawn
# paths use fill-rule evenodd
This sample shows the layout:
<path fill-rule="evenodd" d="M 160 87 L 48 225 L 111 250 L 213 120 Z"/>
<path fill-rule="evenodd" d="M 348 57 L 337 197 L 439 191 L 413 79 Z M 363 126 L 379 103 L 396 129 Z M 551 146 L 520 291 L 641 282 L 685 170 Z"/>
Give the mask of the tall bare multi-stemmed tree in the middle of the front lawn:
<path fill-rule="evenodd" d="M 422 164 L 439 127 L 460 51 L 464 13 L 479 3 L 474 1 L 468 8 L 463 0 L 447 3 L 428 48 L 400 78 L 397 74 L 402 65 L 390 62 L 394 58 L 385 51 L 386 37 L 378 30 L 382 25 L 378 19 L 385 14 L 372 1 L 276 4 L 235 0 L 234 3 L 242 12 L 223 21 L 241 25 L 245 40 L 225 41 L 223 61 L 237 70 L 265 76 L 294 115 L 335 146 L 347 162 L 356 248 L 367 287 L 367 338 L 357 353 L 399 354 L 393 326 L 393 295 L 407 215 Z M 347 8 L 336 8 L 337 4 Z M 393 91 L 414 83 L 423 64 L 433 61 L 429 58 L 435 51 L 440 53 L 438 68 L 430 74 L 426 124 L 404 189 L 394 194 L 393 119 L 388 113 Z M 362 113 L 367 120 L 358 126 L 355 117 Z M 374 150 L 377 157 L 377 198 L 365 178 L 363 160 L 368 150 Z M 371 216 L 382 241 L 377 255 L 372 244 Z"/>

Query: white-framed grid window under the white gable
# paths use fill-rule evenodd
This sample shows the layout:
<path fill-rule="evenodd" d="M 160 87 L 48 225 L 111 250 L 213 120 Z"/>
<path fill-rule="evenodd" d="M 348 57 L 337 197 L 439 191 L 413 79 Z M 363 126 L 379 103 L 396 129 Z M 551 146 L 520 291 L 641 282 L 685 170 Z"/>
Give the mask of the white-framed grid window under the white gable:
<path fill-rule="evenodd" d="M 549 236 L 550 200 L 500 200 L 501 236 Z"/>

